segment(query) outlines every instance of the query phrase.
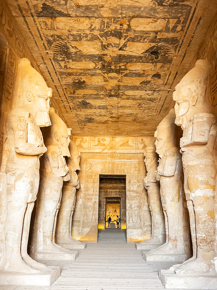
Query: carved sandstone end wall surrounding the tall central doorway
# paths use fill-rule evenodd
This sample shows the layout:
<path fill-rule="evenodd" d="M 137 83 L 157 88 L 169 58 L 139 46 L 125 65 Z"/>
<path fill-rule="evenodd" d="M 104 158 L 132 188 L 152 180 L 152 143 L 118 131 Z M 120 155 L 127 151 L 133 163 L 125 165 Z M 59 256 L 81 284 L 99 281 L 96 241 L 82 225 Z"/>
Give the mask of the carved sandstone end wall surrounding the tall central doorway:
<path fill-rule="evenodd" d="M 97 242 L 99 179 L 100 175 L 109 174 L 126 175 L 127 241 L 138 242 L 151 237 L 151 215 L 147 191 L 144 189 L 146 169 L 143 154 L 143 147 L 150 139 L 73 137 L 81 151 L 80 189 L 76 192 L 72 220 L 73 238 Z"/>

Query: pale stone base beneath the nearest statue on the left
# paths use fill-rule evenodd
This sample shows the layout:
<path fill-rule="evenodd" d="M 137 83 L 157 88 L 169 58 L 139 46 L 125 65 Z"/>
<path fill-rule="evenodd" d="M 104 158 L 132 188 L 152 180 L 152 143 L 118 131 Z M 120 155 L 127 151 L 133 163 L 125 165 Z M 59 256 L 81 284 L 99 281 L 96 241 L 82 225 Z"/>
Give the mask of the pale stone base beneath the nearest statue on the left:
<path fill-rule="evenodd" d="M 0 285 L 51 286 L 60 277 L 60 268 L 49 266 L 48 270 L 31 274 L 0 271 Z"/>

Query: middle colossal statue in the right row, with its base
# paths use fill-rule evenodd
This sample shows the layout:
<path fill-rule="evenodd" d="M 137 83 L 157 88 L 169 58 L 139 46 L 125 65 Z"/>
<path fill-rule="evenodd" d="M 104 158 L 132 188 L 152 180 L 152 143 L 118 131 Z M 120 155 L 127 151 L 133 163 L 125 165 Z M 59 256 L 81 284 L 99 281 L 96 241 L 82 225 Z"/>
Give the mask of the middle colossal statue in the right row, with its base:
<path fill-rule="evenodd" d="M 183 220 L 183 169 L 174 121 L 173 108 L 155 131 L 156 152 L 159 154 L 156 179 L 160 180 L 167 239 L 159 248 L 143 254 L 148 261 L 183 262 L 190 257 L 189 234 Z"/>

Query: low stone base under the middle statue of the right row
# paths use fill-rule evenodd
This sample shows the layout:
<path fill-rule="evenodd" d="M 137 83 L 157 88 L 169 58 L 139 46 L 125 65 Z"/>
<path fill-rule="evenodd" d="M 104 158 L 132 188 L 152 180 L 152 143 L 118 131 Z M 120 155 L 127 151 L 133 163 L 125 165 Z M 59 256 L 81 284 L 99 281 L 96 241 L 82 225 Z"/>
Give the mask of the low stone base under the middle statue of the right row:
<path fill-rule="evenodd" d="M 145 261 L 164 261 L 164 262 L 185 262 L 185 254 L 155 254 L 143 252 L 142 257 Z M 177 288 L 177 287 L 176 287 Z"/>

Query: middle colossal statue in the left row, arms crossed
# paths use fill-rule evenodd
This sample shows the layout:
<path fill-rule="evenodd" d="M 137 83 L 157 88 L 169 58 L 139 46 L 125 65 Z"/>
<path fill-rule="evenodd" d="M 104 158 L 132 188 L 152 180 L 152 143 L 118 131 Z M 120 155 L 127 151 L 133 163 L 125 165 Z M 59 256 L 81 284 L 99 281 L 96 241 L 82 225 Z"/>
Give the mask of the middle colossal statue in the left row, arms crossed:
<path fill-rule="evenodd" d="M 52 125 L 44 134 L 47 152 L 41 160 L 33 257 L 38 260 L 75 260 L 78 256 L 76 251 L 64 249 L 54 242 L 63 180 L 69 180 L 69 168 L 64 156 L 70 157 L 70 139 L 65 123 L 54 108 L 50 108 L 49 116 Z"/>

